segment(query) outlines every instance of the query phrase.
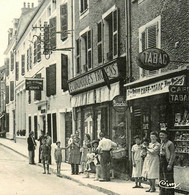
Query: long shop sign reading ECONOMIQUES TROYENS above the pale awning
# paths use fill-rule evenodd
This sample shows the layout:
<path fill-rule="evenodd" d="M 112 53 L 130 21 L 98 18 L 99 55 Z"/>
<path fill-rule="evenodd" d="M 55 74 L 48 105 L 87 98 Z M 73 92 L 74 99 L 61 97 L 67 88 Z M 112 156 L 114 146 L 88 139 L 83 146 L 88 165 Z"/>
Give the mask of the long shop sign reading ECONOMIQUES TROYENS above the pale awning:
<path fill-rule="evenodd" d="M 109 78 L 115 79 L 119 76 L 118 65 L 117 63 L 109 64 L 104 67 L 104 70 Z M 101 84 L 104 82 L 104 77 L 102 73 L 102 69 L 94 70 L 93 72 L 89 72 L 73 81 L 68 83 L 70 94 L 75 92 L 84 90 L 86 88 Z"/>

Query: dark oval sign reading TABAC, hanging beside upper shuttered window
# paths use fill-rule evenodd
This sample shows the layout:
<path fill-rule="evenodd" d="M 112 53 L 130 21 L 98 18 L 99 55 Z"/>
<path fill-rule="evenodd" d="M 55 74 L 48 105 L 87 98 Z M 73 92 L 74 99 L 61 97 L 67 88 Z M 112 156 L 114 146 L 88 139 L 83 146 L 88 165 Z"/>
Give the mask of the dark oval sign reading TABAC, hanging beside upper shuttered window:
<path fill-rule="evenodd" d="M 145 70 L 158 70 L 170 62 L 168 54 L 157 48 L 146 49 L 139 53 L 139 66 Z"/>

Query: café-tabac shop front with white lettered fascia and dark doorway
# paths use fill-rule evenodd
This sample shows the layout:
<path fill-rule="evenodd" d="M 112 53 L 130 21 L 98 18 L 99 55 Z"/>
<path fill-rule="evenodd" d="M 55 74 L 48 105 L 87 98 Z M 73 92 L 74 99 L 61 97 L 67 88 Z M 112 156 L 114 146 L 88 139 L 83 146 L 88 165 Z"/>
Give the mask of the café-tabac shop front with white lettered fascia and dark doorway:
<path fill-rule="evenodd" d="M 175 144 L 175 181 L 186 189 L 189 175 L 189 71 L 172 71 L 127 84 L 133 137 L 149 138 L 151 131 L 167 130 Z"/>

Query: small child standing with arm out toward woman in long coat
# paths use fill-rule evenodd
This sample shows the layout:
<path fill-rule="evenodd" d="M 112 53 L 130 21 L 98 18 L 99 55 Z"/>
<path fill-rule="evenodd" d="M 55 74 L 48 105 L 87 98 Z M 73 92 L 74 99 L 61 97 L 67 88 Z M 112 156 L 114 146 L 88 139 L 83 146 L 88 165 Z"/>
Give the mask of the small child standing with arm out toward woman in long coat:
<path fill-rule="evenodd" d="M 61 162 L 62 162 L 62 150 L 65 149 L 65 148 L 61 148 L 60 144 L 61 143 L 57 141 L 56 142 L 57 147 L 54 150 L 54 158 L 57 164 L 57 176 L 58 177 L 61 177 L 60 170 L 61 170 Z"/>

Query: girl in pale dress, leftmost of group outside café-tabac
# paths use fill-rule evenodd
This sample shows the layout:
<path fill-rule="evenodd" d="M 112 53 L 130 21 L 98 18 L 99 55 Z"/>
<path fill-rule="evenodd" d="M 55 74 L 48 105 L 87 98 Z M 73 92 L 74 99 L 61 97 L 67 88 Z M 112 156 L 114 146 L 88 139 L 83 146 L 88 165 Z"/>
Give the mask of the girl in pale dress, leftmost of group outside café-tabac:
<path fill-rule="evenodd" d="M 141 158 L 141 138 L 137 135 L 134 137 L 135 145 L 132 146 L 132 162 L 133 162 L 133 173 L 132 177 L 135 178 L 135 186 L 133 188 L 143 188 L 142 182 L 142 158 Z"/>

